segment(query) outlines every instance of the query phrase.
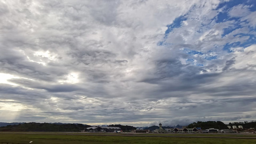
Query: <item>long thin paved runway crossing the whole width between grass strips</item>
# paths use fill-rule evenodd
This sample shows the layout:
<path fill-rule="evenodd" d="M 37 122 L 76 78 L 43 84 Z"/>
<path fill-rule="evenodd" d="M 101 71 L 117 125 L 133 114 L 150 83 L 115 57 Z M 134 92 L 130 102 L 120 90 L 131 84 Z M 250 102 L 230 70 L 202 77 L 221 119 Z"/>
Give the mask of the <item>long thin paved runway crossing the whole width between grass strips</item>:
<path fill-rule="evenodd" d="M 181 138 L 250 138 L 240 136 L 164 136 L 164 135 L 136 135 L 136 134 L 70 134 L 70 133 L 34 133 L 34 132 L 0 132 L 0 134 L 55 134 L 55 135 L 84 135 L 84 136 L 142 136 L 142 137 L 181 137 Z"/>

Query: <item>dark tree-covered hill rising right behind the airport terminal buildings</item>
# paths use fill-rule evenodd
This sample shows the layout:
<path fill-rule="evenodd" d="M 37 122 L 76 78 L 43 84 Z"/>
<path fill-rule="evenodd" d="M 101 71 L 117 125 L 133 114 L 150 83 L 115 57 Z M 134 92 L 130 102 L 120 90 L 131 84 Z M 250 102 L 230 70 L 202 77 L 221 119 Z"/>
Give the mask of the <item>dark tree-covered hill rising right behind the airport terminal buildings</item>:
<path fill-rule="evenodd" d="M 208 121 L 208 122 L 194 122 L 192 124 L 189 124 L 187 128 L 202 128 L 202 130 L 206 130 L 209 128 L 216 128 L 220 130 L 228 129 L 227 125 L 220 121 Z"/>

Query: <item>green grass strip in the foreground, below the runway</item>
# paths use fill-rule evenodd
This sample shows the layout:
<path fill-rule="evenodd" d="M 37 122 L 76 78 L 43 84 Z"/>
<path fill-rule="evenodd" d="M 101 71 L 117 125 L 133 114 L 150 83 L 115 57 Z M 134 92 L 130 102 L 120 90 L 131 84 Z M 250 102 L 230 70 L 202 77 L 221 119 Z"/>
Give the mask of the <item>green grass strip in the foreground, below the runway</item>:
<path fill-rule="evenodd" d="M 170 138 L 134 136 L 78 136 L 50 134 L 3 134 L 1 142 L 9 144 L 256 144 L 256 139 L 238 138 Z"/>

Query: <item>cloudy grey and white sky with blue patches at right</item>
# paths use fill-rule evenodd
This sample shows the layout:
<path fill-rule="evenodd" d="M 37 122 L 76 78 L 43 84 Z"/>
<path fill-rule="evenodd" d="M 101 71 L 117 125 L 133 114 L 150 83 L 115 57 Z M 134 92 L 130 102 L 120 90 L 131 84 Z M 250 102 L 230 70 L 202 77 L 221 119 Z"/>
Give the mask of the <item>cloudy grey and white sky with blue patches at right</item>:
<path fill-rule="evenodd" d="M 256 120 L 256 0 L 1 0 L 0 122 Z"/>

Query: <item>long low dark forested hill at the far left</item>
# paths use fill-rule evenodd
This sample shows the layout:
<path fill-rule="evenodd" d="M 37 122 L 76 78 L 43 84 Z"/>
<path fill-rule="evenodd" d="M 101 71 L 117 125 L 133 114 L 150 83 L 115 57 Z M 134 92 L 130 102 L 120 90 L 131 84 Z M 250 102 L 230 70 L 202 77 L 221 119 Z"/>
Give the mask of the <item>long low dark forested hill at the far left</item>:
<path fill-rule="evenodd" d="M 18 125 L 8 125 L 0 127 L 0 131 L 5 132 L 79 132 L 90 127 L 86 124 L 51 124 L 29 122 Z"/>

